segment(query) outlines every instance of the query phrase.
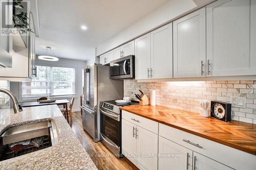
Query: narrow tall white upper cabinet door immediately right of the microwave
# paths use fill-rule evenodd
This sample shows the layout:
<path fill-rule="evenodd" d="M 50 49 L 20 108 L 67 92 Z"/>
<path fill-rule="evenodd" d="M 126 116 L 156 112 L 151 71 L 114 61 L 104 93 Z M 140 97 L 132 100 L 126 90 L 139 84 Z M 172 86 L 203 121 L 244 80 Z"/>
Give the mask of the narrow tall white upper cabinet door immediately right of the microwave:
<path fill-rule="evenodd" d="M 150 33 L 135 39 L 136 79 L 150 78 Z"/>

